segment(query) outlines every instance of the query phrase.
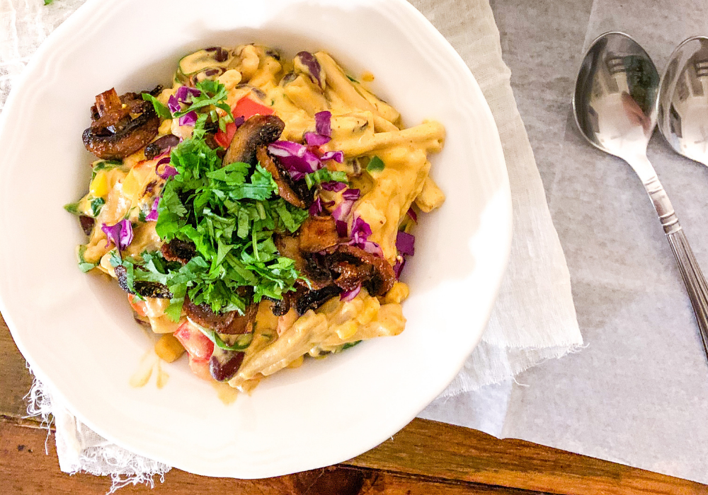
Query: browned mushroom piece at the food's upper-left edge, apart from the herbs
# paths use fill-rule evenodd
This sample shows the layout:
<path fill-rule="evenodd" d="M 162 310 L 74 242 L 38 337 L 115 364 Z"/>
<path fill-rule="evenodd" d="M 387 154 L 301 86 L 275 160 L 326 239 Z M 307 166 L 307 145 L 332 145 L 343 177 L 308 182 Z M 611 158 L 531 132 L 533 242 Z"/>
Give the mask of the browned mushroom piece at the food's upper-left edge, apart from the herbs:
<path fill-rule="evenodd" d="M 135 153 L 154 139 L 160 126 L 152 103 L 136 93 L 119 97 L 114 88 L 96 96 L 91 121 L 84 131 L 84 146 L 104 160 Z"/>

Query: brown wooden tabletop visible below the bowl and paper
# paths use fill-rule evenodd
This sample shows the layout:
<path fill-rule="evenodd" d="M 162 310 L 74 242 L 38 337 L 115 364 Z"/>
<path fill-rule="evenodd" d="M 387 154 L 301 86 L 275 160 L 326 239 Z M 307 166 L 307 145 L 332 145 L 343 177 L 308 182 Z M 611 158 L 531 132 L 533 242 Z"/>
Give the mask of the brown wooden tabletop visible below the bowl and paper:
<path fill-rule="evenodd" d="M 54 437 L 23 419 L 32 379 L 0 317 L 0 494 L 103 494 L 110 479 L 59 470 Z M 120 494 L 148 493 L 144 486 Z M 414 419 L 340 465 L 278 478 L 207 478 L 171 470 L 154 494 L 708 494 L 708 486 L 520 440 Z"/>

